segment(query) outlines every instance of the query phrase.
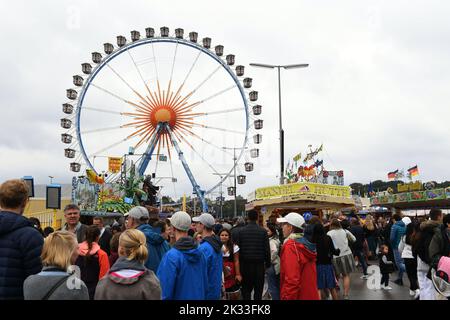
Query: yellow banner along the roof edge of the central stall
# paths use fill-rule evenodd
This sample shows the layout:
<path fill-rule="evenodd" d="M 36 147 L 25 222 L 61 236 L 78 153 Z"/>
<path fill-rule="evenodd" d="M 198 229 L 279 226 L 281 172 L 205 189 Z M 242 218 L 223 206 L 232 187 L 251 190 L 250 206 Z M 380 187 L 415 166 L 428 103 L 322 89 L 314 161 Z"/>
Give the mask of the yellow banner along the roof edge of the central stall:
<path fill-rule="evenodd" d="M 279 198 L 299 193 L 351 198 L 350 187 L 320 183 L 292 183 L 256 189 L 256 199 Z"/>

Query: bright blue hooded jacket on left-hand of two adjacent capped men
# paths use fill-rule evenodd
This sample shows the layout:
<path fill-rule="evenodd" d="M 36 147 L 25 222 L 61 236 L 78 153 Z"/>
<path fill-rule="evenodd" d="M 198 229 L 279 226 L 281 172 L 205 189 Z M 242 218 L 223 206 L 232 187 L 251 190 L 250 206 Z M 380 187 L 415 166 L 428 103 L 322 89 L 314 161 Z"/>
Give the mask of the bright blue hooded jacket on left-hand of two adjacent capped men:
<path fill-rule="evenodd" d="M 162 300 L 206 299 L 206 257 L 191 237 L 180 238 L 166 253 L 157 277 L 161 284 Z"/>

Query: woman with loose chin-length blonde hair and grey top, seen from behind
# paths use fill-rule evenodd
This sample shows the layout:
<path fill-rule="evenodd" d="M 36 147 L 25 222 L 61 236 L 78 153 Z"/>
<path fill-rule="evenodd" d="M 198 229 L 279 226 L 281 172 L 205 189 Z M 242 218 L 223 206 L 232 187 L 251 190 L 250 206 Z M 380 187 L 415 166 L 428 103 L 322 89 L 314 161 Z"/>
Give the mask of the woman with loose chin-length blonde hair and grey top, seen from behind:
<path fill-rule="evenodd" d="M 25 300 L 89 300 L 86 285 L 69 272 L 78 257 L 78 242 L 68 231 L 56 231 L 44 240 L 42 272 L 23 285 Z"/>

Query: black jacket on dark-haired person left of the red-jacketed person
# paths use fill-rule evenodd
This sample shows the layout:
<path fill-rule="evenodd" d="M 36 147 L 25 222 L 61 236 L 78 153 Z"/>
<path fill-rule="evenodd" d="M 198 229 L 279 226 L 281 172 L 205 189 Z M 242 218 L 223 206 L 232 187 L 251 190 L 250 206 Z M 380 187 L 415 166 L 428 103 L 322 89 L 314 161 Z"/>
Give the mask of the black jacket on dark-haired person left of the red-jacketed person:
<path fill-rule="evenodd" d="M 239 260 L 242 262 L 265 263 L 270 267 L 269 236 L 264 228 L 250 221 L 237 234 Z"/>

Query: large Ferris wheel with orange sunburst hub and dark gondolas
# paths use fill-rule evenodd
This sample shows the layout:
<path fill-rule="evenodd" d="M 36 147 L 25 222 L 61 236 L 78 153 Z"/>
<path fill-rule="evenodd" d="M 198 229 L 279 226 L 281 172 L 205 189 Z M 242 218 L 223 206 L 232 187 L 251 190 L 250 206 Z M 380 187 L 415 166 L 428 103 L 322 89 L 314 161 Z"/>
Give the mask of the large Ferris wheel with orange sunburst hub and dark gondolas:
<path fill-rule="evenodd" d="M 146 28 L 142 38 L 131 31 L 131 41 L 118 36 L 116 47 L 103 46 L 105 54 L 93 52 L 93 64 L 73 76 L 63 104 L 61 140 L 71 171 L 116 181 L 120 173 L 108 172 L 108 158 L 131 149 L 138 175 L 172 183 L 185 177 L 204 210 L 205 195 L 231 177 L 246 182 L 259 157 L 262 107 L 235 55 L 222 45 L 212 49 L 211 38 L 168 27 L 159 34 Z"/>

